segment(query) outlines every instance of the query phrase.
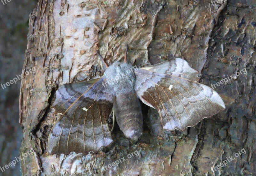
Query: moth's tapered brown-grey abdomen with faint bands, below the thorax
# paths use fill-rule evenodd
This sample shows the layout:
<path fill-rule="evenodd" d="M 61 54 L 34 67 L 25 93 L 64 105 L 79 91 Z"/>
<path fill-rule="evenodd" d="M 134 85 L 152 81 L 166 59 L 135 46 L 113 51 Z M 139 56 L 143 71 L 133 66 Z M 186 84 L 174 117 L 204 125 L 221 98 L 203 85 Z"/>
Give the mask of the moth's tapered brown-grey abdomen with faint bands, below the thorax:
<path fill-rule="evenodd" d="M 117 124 L 124 135 L 137 140 L 142 133 L 142 113 L 135 92 L 117 94 L 114 111 Z"/>

